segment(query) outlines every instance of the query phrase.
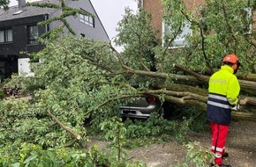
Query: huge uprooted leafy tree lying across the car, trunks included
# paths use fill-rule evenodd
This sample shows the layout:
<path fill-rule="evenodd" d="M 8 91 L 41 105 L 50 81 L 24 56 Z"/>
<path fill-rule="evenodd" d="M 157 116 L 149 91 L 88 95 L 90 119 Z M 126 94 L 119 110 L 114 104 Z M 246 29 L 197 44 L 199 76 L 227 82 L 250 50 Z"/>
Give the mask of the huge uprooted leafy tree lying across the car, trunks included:
<path fill-rule="evenodd" d="M 256 34 L 248 17 L 248 12 L 255 11 L 255 2 L 207 0 L 197 12 L 186 11 L 183 1 L 164 0 L 163 6 L 165 23 L 171 27 L 164 45 L 155 38 L 151 17 L 142 9 L 136 14 L 126 9 L 119 22 L 115 42 L 124 46 L 122 52 L 109 43 L 83 38 L 44 40 L 46 47 L 36 54 L 41 62 L 32 64 L 34 77 L 26 77 L 19 85 L 33 91 L 33 100 L 26 105 L 20 101 L 2 105 L 1 121 L 15 120 L 4 128 L 17 127 L 27 141 L 52 146 L 82 139 L 85 118 L 93 118 L 98 125 L 117 115 L 119 106 L 134 97 L 154 96 L 205 112 L 208 78 L 225 54 L 237 54 L 243 64 L 237 74 L 243 108 L 233 116 L 255 120 Z M 173 40 L 187 24 L 192 34 L 185 37 L 184 47 L 174 47 Z M 26 114 L 21 116 L 20 111 Z M 18 128 L 21 125 L 26 129 Z M 38 135 L 28 135 L 32 133 Z M 58 138 L 46 143 L 41 136 Z M 15 137 L 3 134 L 1 139 Z"/>

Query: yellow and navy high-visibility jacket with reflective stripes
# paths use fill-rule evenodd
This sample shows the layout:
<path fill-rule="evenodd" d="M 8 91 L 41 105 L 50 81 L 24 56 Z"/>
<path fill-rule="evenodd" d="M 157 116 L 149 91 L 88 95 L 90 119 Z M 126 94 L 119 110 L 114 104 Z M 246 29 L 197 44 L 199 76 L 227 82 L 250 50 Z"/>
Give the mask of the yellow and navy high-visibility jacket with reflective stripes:
<path fill-rule="evenodd" d="M 231 105 L 238 103 L 240 85 L 234 70 L 223 65 L 209 79 L 207 120 L 218 124 L 229 125 L 231 122 Z"/>

